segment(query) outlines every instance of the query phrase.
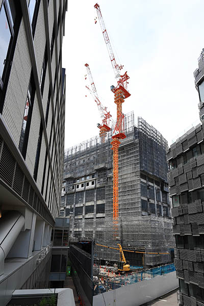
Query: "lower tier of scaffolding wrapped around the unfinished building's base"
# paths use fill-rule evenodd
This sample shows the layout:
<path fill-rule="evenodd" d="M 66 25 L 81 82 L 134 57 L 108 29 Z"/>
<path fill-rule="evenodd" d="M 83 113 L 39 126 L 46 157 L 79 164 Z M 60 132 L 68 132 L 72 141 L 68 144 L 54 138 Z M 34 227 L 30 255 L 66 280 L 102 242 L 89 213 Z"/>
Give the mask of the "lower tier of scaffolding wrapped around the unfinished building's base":
<path fill-rule="evenodd" d="M 82 228 L 83 219 L 74 220 L 73 233 L 78 240 L 78 228 Z M 75 235 L 77 234 L 77 235 Z M 169 252 L 169 254 L 144 254 L 145 266 L 157 266 L 161 263 L 171 262 L 170 250 L 174 247 L 172 222 L 170 219 L 151 216 L 120 217 L 118 220 L 118 237 L 113 235 L 113 222 L 111 218 L 103 221 L 85 219 L 85 231 L 82 240 L 92 240 L 107 246 L 117 247 L 120 243 L 124 249 L 141 252 Z M 125 253 L 125 256 L 127 253 Z M 119 251 L 95 245 L 94 256 L 105 260 L 119 260 Z M 126 258 L 127 259 L 127 258 Z M 142 265 L 142 255 L 140 258 Z"/>

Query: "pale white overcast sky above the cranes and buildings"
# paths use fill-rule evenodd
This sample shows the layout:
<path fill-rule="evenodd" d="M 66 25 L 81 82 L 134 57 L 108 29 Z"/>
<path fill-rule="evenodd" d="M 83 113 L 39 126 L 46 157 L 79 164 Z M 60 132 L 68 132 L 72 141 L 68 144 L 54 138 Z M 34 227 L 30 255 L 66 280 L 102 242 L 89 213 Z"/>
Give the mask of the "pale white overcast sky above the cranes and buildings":
<path fill-rule="evenodd" d="M 66 68 L 65 148 L 98 135 L 98 109 L 87 93 L 88 63 L 98 95 L 116 117 L 114 72 L 95 1 L 68 1 L 63 67 Z M 108 34 L 130 76 L 131 96 L 123 113 L 134 111 L 167 139 L 199 122 L 193 71 L 204 47 L 203 0 L 100 0 Z M 86 97 L 87 95 L 87 97 Z M 180 135 L 181 134 L 181 135 Z"/>

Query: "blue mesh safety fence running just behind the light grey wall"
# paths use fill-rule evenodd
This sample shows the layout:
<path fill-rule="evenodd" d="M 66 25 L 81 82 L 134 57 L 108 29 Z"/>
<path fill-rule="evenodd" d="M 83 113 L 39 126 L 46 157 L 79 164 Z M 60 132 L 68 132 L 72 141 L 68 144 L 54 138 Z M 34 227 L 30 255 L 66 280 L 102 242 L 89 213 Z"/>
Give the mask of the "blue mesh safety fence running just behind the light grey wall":
<path fill-rule="evenodd" d="M 104 293 L 110 290 L 120 288 L 122 286 L 131 285 L 137 282 L 142 282 L 146 279 L 151 279 L 156 276 L 161 276 L 175 271 L 174 264 L 169 264 L 157 268 L 152 268 L 145 271 L 135 272 L 132 274 L 120 275 L 112 277 L 111 279 L 105 279 L 104 281 L 99 279 L 97 288 L 94 290 L 94 295 Z"/>

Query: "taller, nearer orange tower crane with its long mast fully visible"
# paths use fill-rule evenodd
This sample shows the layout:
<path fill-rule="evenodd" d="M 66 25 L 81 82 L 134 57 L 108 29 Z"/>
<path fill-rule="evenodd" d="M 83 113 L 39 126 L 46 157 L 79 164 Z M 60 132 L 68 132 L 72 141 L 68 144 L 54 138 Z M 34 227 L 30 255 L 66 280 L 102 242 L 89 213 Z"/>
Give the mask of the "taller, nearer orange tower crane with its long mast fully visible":
<path fill-rule="evenodd" d="M 126 136 L 124 134 L 124 115 L 122 114 L 122 103 L 124 99 L 129 97 L 131 94 L 127 91 L 127 80 L 129 76 L 127 71 L 124 74 L 120 74 L 123 66 L 118 65 L 113 53 L 111 42 L 105 27 L 104 19 L 102 17 L 100 7 L 96 3 L 94 8 L 97 11 L 98 20 L 100 23 L 100 28 L 102 30 L 104 40 L 108 49 L 109 57 L 111 64 L 114 70 L 115 78 L 117 80 L 117 86 L 111 86 L 111 91 L 114 93 L 114 103 L 117 105 L 117 123 L 114 130 L 114 135 L 112 136 L 113 141 L 112 150 L 113 150 L 113 221 L 117 223 L 118 221 L 118 148 L 120 145 L 120 139 L 124 139 Z M 95 23 L 97 20 L 95 19 Z"/>

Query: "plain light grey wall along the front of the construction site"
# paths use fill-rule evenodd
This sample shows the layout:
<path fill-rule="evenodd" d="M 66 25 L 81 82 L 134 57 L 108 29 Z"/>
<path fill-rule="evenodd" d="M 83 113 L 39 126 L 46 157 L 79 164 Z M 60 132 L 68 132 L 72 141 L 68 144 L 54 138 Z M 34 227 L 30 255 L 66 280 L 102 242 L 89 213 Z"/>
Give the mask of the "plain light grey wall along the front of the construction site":
<path fill-rule="evenodd" d="M 139 306 L 179 287 L 175 271 L 93 297 L 93 306 Z"/>

